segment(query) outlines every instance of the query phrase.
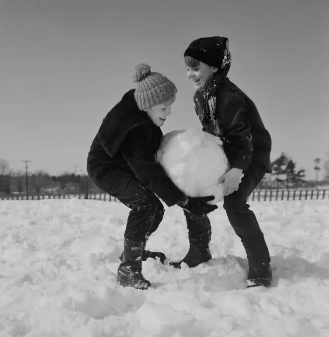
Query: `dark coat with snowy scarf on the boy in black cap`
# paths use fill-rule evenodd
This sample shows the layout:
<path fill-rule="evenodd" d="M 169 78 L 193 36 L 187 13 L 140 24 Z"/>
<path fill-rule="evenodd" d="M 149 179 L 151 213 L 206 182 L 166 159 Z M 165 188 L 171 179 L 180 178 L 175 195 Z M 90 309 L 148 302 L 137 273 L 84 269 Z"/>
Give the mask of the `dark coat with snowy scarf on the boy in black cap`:
<path fill-rule="evenodd" d="M 215 100 L 197 91 L 194 103 L 203 130 L 222 139 L 231 168 L 246 170 L 255 161 L 271 173 L 271 137 L 244 92 L 226 77 L 218 85 Z"/>

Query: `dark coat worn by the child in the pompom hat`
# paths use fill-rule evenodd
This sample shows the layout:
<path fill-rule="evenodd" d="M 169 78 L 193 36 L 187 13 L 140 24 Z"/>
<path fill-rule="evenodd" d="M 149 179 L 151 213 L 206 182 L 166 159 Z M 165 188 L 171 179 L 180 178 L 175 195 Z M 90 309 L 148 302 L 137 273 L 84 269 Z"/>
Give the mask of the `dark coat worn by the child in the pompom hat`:
<path fill-rule="evenodd" d="M 103 119 L 88 153 L 88 175 L 109 194 L 127 176 L 136 177 L 168 206 L 175 205 L 185 195 L 156 162 L 162 131 L 138 109 L 133 93 L 128 91 Z"/>

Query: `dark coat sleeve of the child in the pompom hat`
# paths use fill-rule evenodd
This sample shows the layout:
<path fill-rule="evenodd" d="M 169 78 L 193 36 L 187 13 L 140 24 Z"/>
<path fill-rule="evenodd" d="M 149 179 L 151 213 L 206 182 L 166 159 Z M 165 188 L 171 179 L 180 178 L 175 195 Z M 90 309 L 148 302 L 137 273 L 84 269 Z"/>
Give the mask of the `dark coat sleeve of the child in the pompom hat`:
<path fill-rule="evenodd" d="M 121 152 L 136 177 L 170 207 L 186 196 L 156 162 L 151 137 L 147 127 L 138 126 L 127 134 Z"/>

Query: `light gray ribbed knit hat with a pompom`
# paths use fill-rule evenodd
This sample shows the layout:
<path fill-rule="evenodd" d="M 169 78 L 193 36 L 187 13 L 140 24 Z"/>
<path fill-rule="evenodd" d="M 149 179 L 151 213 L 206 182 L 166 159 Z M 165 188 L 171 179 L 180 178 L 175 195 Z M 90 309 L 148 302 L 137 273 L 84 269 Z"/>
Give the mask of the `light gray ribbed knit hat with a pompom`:
<path fill-rule="evenodd" d="M 137 64 L 132 76 L 136 83 L 134 93 L 139 110 L 145 111 L 165 102 L 177 93 L 175 84 L 159 72 L 151 71 L 146 63 Z"/>

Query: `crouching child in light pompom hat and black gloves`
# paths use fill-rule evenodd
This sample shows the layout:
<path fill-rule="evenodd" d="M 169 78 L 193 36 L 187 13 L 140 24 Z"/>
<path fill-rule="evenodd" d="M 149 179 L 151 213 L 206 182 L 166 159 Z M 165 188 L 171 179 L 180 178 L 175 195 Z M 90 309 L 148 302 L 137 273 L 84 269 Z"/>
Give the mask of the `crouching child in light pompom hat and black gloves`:
<path fill-rule="evenodd" d="M 156 162 L 163 136 L 160 126 L 170 115 L 177 93 L 174 83 L 151 72 L 145 63 L 136 66 L 133 81 L 136 89 L 129 90 L 103 119 L 90 147 L 87 172 L 98 188 L 131 209 L 118 282 L 147 289 L 151 283 L 141 273 L 142 261 L 158 257 L 163 263 L 166 259 L 163 253 L 145 250 L 164 214 L 157 195 L 169 207 L 181 206 L 192 226 L 195 216 L 202 217 L 217 206 L 207 204 L 213 196 L 188 198 Z"/>

